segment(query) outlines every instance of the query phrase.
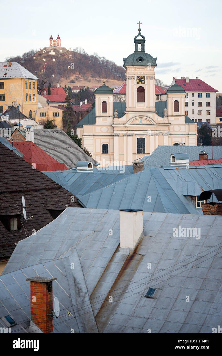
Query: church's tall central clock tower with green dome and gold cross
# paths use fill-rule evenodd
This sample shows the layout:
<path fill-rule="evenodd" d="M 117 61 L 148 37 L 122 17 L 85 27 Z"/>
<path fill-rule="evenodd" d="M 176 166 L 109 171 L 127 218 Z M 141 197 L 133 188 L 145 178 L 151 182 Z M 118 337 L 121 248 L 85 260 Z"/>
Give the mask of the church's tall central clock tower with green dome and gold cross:
<path fill-rule="evenodd" d="M 141 22 L 139 22 L 139 25 Z M 126 112 L 155 112 L 155 72 L 157 58 L 145 52 L 145 37 L 134 37 L 135 51 L 123 58 L 126 68 Z"/>

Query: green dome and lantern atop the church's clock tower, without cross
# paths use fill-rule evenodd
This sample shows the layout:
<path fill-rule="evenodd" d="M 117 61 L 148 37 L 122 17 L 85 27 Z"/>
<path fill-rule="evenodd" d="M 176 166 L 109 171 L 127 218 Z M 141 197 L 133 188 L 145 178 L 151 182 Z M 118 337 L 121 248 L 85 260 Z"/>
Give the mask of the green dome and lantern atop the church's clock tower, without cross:
<path fill-rule="evenodd" d="M 140 28 L 139 28 L 140 30 Z M 141 37 L 141 38 L 138 38 Z M 134 37 L 135 51 L 129 54 L 127 58 L 123 58 L 123 67 L 127 66 L 157 66 L 157 57 L 152 57 L 151 54 L 145 52 L 145 37 L 139 31 Z"/>

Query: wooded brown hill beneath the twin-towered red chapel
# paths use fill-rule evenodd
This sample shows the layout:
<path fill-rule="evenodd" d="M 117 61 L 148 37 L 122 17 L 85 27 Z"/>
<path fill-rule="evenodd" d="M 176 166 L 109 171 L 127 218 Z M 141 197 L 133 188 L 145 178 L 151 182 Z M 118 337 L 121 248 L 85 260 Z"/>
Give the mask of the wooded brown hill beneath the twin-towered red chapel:
<path fill-rule="evenodd" d="M 21 57 L 6 58 L 16 61 L 31 73 L 37 72 L 39 85 L 50 82 L 52 87 L 57 84 L 71 87 L 85 85 L 85 87 L 101 85 L 103 79 L 110 86 L 121 85 L 125 80 L 125 69 L 114 62 L 97 54 L 89 55 L 80 49 L 68 50 L 65 47 L 44 47 L 39 51 L 31 50 Z"/>

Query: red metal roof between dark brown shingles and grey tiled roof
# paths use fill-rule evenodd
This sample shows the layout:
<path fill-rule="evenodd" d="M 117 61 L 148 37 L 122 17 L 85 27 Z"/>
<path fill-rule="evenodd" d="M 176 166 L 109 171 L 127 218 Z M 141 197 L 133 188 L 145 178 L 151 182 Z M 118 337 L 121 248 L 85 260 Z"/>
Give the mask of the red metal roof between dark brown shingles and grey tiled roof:
<path fill-rule="evenodd" d="M 13 146 L 23 154 L 22 158 L 25 159 L 26 162 L 30 164 L 36 163 L 36 168 L 41 172 L 69 171 L 69 168 L 67 168 L 64 163 L 59 163 L 32 141 L 13 142 Z"/>

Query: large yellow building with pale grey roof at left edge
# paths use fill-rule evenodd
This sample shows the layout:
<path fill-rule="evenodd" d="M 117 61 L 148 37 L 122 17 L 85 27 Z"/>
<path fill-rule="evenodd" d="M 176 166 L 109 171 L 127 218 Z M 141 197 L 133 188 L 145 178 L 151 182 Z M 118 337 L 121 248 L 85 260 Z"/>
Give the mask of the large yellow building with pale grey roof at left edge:
<path fill-rule="evenodd" d="M 14 105 L 30 119 L 38 107 L 38 78 L 17 62 L 0 62 L 0 113 Z"/>

